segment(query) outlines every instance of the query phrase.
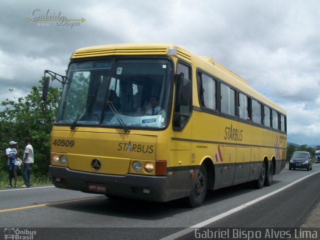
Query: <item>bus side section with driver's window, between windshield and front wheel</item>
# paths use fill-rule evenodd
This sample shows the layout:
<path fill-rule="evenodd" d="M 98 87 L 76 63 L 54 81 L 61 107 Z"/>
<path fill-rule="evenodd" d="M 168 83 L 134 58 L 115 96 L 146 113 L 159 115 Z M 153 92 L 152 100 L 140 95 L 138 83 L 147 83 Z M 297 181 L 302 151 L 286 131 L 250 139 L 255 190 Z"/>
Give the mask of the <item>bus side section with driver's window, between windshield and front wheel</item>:
<path fill-rule="evenodd" d="M 192 138 L 191 67 L 178 62 L 176 72 L 182 79 L 179 78 L 179 81 L 176 82 L 172 119 L 174 131 L 171 137 L 174 140 L 171 144 L 170 160 L 167 165 L 167 195 L 170 195 L 171 199 L 187 196 L 193 187 L 193 179 L 190 178 L 191 142 L 185 140 Z M 183 94 L 178 94 L 179 90 Z"/>

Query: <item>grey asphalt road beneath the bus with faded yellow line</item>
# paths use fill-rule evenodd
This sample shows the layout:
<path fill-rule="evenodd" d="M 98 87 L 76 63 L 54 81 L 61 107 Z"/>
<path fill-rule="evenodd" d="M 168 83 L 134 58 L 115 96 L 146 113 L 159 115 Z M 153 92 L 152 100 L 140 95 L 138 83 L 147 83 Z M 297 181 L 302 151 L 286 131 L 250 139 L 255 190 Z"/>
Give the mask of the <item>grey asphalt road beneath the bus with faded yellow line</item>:
<path fill-rule="evenodd" d="M 311 171 L 286 167 L 274 175 L 271 186 L 257 190 L 246 183 L 211 191 L 197 208 L 187 208 L 180 200 L 165 203 L 114 200 L 52 186 L 0 189 L 0 227 L 35 229 L 37 234 L 33 239 L 36 240 L 43 239 L 42 236 L 45 239 L 175 239 L 179 236 L 174 235 L 176 232 L 192 226 L 309 226 L 305 224 L 320 200 L 319 171 L 320 164 L 313 164 Z M 247 204 L 310 174 L 313 175 Z M 232 214 L 203 223 L 239 206 L 242 208 Z M 192 232 L 189 234 L 194 237 Z M 184 234 L 181 239 L 187 236 Z"/>

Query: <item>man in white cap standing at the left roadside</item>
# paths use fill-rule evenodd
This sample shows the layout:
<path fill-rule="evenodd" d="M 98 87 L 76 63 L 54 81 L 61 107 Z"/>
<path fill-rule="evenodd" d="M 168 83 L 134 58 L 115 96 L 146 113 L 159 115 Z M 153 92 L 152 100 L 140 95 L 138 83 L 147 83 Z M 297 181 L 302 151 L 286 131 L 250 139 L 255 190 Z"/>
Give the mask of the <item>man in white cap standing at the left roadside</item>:
<path fill-rule="evenodd" d="M 18 168 L 18 163 L 16 157 L 19 156 L 19 153 L 16 148 L 19 148 L 16 143 L 16 141 L 10 141 L 9 147 L 5 149 L 5 154 L 8 158 L 7 165 L 9 171 L 9 185 L 7 187 L 12 187 L 12 178 L 14 178 L 14 187 L 16 187 L 17 183 L 16 169 Z"/>

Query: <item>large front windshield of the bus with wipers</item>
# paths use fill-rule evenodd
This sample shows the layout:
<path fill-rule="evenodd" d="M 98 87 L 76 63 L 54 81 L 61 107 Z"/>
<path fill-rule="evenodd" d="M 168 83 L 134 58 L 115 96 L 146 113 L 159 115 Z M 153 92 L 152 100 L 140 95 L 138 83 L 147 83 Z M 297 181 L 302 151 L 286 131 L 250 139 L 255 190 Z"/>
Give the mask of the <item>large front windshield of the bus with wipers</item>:
<path fill-rule="evenodd" d="M 171 81 L 168 58 L 71 62 L 55 124 L 164 128 Z"/>

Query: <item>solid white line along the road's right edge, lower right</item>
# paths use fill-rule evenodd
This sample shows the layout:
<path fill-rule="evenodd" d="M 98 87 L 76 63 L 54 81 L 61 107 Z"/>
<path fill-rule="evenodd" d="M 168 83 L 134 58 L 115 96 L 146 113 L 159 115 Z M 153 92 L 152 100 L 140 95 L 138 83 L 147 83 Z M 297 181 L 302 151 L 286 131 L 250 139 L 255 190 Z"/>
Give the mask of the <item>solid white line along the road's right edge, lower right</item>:
<path fill-rule="evenodd" d="M 241 210 L 241 209 L 243 209 L 243 208 L 245 208 L 245 207 L 247 207 L 247 206 L 249 206 L 249 205 L 252 205 L 252 204 L 254 204 L 254 203 L 256 203 L 256 202 L 258 202 L 258 201 L 260 201 L 260 200 L 263 200 L 263 199 L 265 199 L 265 198 L 267 198 L 267 197 L 269 197 L 269 196 L 271 196 L 271 195 L 273 195 L 273 194 L 275 194 L 275 193 L 278 193 L 279 191 L 282 191 L 282 190 L 284 190 L 284 189 L 286 189 L 286 188 L 294 185 L 295 183 L 298 183 L 299 181 L 302 181 L 303 179 L 305 179 L 305 178 L 307 178 L 307 177 L 309 177 L 309 176 L 312 176 L 312 175 L 314 175 L 314 174 L 316 174 L 316 173 L 319 173 L 319 172 L 320 172 L 320 171 L 313 172 L 313 173 L 311 173 L 311 174 L 309 174 L 309 175 L 307 175 L 307 176 L 304 176 L 304 177 L 302 177 L 302 178 L 300 178 L 300 179 L 298 179 L 298 180 L 296 180 L 296 181 L 293 181 L 293 182 L 291 182 L 290 184 L 285 185 L 285 186 L 283 186 L 283 187 L 281 187 L 281 188 L 279 188 L 279 189 L 277 189 L 277 190 L 275 190 L 275 191 L 272 191 L 272 192 L 270 192 L 270 193 L 268 193 L 268 194 L 265 194 L 265 195 L 263 195 L 263 196 L 260 196 L 260 197 L 258 197 L 258 198 L 256 198 L 256 199 L 252 200 L 252 201 L 248 201 L 248 202 L 246 202 L 246 203 L 244 203 L 244 204 L 242 204 L 242 205 L 239 205 L 239 206 L 237 206 L 237 207 L 235 207 L 235 208 L 233 208 L 233 209 L 230 209 L 230 210 L 228 210 L 228 211 L 226 211 L 226 212 L 223 212 L 223 213 L 221 213 L 221 214 L 219 214 L 219 215 L 213 216 L 213 217 L 211 217 L 211 218 L 209 218 L 209 219 L 207 219 L 207 220 L 205 220 L 205 221 L 199 222 L 199 223 L 197 223 L 197 224 L 195 224 L 195 225 L 193 225 L 193 226 L 190 226 L 190 227 L 188 227 L 188 228 L 185 228 L 185 229 L 183 229 L 183 230 L 181 230 L 181 231 L 178 231 L 178 232 L 175 232 L 175 233 L 173 233 L 173 234 L 171 234 L 171 235 L 168 235 L 168 236 L 166 236 L 166 237 L 163 237 L 163 238 L 161 238 L 160 240 L 173 240 L 173 239 L 176 239 L 176 238 L 178 238 L 178 237 L 180 237 L 180 236 L 183 236 L 183 235 L 185 235 L 185 234 L 187 234 L 187 233 L 189 233 L 189 232 L 191 232 L 191 231 L 194 231 L 195 228 L 203 227 L 203 226 L 205 226 L 205 225 L 207 225 L 207 224 L 210 224 L 210 223 L 212 223 L 212 222 L 214 222 L 214 221 L 217 221 L 217 220 L 219 220 L 219 219 L 221 219 L 221 218 L 223 218 L 223 217 L 225 217 L 225 216 L 228 216 L 228 215 L 230 215 L 230 214 L 232 214 L 232 213 L 234 213 L 234 212 L 237 212 L 237 211 L 239 211 L 239 210 Z"/>

